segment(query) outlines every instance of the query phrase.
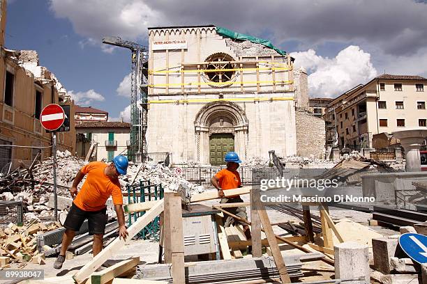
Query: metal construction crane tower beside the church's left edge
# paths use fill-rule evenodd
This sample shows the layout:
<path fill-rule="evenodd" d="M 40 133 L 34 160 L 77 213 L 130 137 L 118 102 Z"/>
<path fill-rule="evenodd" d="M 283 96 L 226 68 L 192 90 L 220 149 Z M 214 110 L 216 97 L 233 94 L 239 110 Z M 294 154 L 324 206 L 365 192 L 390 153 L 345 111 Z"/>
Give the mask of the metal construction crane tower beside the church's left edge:
<path fill-rule="evenodd" d="M 144 161 L 147 154 L 147 62 L 148 48 L 119 37 L 105 37 L 103 43 L 130 49 L 130 145 L 128 157 L 134 162 Z"/>

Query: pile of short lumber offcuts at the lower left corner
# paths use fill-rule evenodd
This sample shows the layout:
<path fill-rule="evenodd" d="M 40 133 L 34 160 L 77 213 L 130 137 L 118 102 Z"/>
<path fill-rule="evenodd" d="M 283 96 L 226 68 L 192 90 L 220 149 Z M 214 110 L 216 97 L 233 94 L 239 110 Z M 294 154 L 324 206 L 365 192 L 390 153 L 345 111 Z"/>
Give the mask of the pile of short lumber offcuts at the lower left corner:
<path fill-rule="evenodd" d="M 37 234 L 57 229 L 61 226 L 54 222 L 49 226 L 44 223 L 29 223 L 24 227 L 17 227 L 10 223 L 6 228 L 0 229 L 0 256 L 3 262 L 2 267 L 7 265 L 6 262 L 34 262 L 39 265 L 45 264 L 44 253 L 37 251 Z M 8 258 L 8 260 L 7 260 Z"/>

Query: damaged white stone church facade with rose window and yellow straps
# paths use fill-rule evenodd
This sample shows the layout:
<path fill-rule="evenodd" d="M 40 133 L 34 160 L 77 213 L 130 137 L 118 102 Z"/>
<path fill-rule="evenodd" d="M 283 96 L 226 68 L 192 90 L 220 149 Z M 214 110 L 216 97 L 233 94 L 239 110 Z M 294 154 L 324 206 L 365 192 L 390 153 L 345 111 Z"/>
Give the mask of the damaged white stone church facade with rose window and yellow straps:
<path fill-rule="evenodd" d="M 230 150 L 297 154 L 294 59 L 257 42 L 213 25 L 149 28 L 148 152 L 211 165 Z"/>

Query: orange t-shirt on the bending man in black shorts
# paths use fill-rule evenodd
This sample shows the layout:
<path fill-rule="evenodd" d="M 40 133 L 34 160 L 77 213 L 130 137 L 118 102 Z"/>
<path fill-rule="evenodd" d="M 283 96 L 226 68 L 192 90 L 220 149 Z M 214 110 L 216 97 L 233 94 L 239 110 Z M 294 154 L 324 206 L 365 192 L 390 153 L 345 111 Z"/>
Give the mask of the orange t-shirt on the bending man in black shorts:
<path fill-rule="evenodd" d="M 102 161 L 93 161 L 80 170 L 87 177 L 73 202 L 81 210 L 103 210 L 110 196 L 114 204 L 123 204 L 119 180 L 110 180 L 105 175 L 104 170 L 107 166 Z"/>

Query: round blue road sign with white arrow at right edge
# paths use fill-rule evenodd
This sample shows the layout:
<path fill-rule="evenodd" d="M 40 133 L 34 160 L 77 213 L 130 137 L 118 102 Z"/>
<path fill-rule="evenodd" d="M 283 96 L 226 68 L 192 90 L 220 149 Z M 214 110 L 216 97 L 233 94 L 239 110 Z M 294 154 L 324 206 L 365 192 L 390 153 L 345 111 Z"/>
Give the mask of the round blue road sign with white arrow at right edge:
<path fill-rule="evenodd" d="M 427 237 L 407 232 L 399 237 L 400 247 L 418 263 L 427 263 Z"/>

